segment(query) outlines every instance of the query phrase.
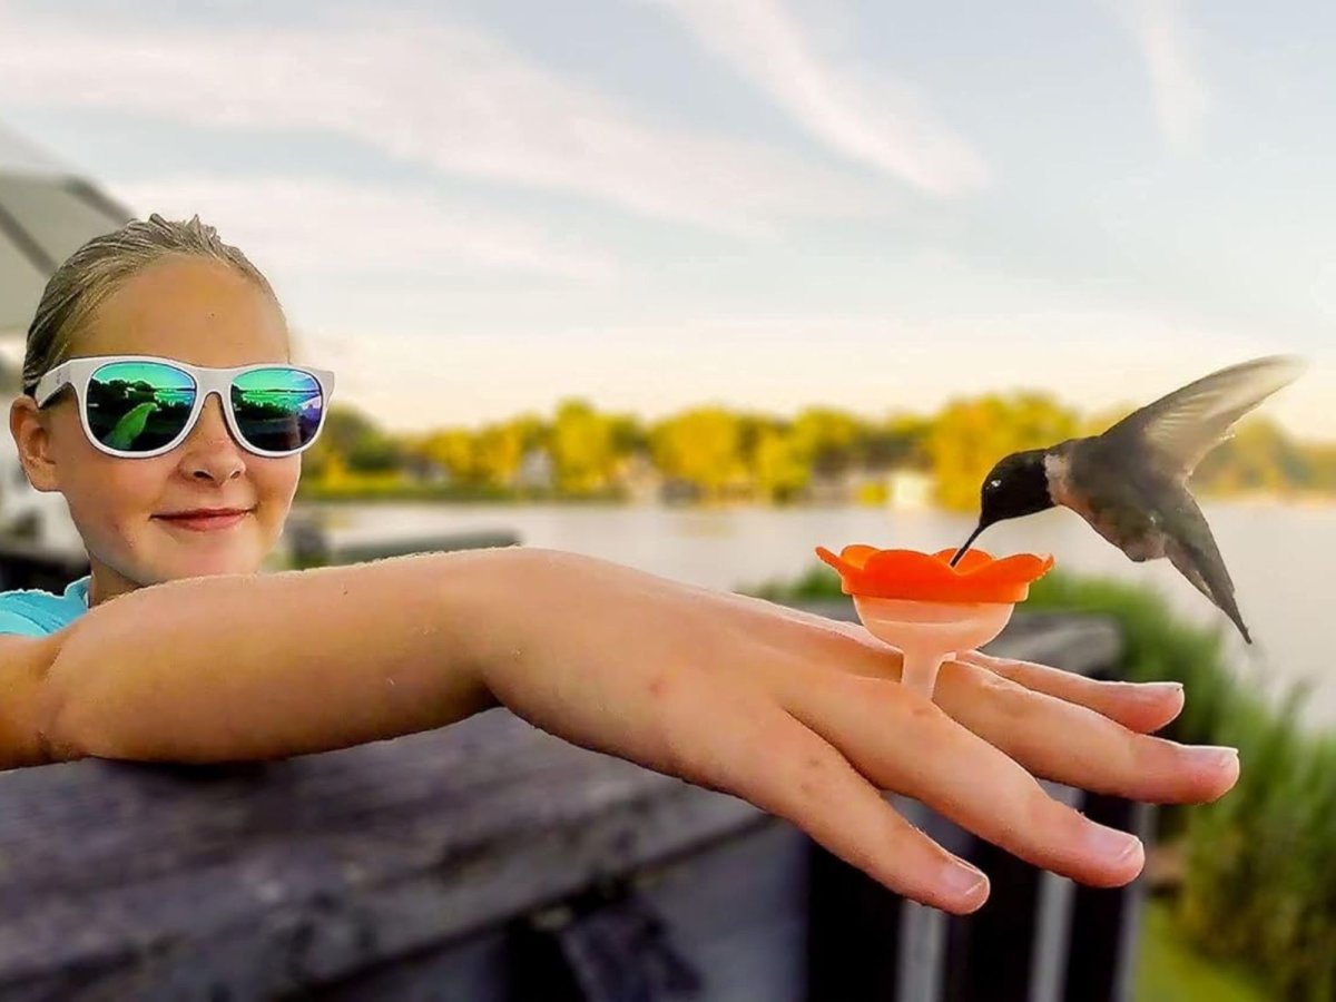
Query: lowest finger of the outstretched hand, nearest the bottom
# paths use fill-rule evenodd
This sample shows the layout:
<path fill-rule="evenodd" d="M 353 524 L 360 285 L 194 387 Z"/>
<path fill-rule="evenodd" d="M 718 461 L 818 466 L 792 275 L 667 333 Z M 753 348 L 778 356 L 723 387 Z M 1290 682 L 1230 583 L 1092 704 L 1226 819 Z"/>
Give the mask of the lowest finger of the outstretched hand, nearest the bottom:
<path fill-rule="evenodd" d="M 962 915 L 983 904 L 987 878 L 904 820 L 820 735 L 763 700 L 747 716 L 683 721 L 692 747 L 673 771 L 792 822 L 906 898 Z"/>

